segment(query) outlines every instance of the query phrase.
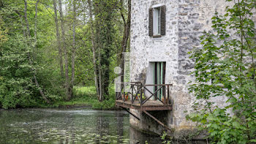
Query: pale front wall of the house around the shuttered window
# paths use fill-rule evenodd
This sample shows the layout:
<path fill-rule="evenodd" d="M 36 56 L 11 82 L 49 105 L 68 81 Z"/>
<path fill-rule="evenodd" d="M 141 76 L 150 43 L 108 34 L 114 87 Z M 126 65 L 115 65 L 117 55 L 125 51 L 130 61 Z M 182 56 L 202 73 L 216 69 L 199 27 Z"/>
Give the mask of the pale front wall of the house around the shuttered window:
<path fill-rule="evenodd" d="M 166 35 L 161 38 L 148 37 L 148 9 L 154 4 L 165 4 Z M 146 79 L 149 61 L 166 61 L 166 82 L 173 79 L 173 69 L 178 66 L 177 2 L 173 0 L 132 1 L 131 24 L 131 80 Z M 172 24 L 176 23 L 176 24 Z"/>

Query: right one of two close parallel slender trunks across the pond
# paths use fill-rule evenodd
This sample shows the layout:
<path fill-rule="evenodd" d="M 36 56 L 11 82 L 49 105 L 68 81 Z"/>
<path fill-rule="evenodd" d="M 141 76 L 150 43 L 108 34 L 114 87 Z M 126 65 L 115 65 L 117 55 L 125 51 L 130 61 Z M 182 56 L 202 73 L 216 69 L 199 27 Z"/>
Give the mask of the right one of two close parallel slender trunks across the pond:
<path fill-rule="evenodd" d="M 65 86 L 66 86 L 66 95 L 67 98 L 70 97 L 69 93 L 69 66 L 68 66 L 68 57 L 67 57 L 67 48 L 65 44 L 65 30 L 64 30 L 64 17 L 62 12 L 61 0 L 59 0 L 59 15 L 61 17 L 61 34 L 62 34 L 62 47 L 64 49 L 64 61 L 65 61 Z"/>

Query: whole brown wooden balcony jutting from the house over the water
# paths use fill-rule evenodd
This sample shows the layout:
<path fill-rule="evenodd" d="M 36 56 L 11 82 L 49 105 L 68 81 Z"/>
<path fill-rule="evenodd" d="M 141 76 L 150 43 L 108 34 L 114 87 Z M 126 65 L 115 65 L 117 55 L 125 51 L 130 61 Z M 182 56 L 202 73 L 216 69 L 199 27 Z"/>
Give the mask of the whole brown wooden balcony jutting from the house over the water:
<path fill-rule="evenodd" d="M 140 82 L 132 82 L 129 92 L 116 93 L 116 106 L 132 108 L 135 110 L 172 110 L 170 103 L 170 86 L 172 84 L 161 85 L 142 85 Z M 156 91 L 152 92 L 150 87 L 155 87 Z M 157 94 L 162 91 L 162 99 Z M 146 97 L 146 93 L 151 96 Z M 155 99 L 155 100 L 152 100 Z"/>

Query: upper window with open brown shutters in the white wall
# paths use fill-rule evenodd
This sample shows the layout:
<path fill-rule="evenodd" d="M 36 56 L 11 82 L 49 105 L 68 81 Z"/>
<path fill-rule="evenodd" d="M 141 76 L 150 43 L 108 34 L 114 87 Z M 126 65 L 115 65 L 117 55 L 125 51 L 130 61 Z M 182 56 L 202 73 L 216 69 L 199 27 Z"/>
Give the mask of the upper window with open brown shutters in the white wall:
<path fill-rule="evenodd" d="M 162 37 L 165 35 L 165 6 L 149 9 L 148 35 Z"/>

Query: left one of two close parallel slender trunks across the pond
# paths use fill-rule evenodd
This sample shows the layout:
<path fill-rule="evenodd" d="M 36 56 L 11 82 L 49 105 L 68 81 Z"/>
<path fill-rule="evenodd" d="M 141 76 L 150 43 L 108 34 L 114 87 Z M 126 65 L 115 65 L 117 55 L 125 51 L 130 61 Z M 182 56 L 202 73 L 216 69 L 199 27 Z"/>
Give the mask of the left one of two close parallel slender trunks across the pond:
<path fill-rule="evenodd" d="M 56 37 L 57 37 L 58 48 L 59 48 L 59 67 L 61 69 L 61 77 L 64 77 L 61 37 L 59 34 L 59 23 L 58 23 L 58 12 L 57 12 L 56 0 L 53 0 L 53 9 L 54 9 L 54 20 L 55 20 L 55 26 L 56 26 Z"/>

